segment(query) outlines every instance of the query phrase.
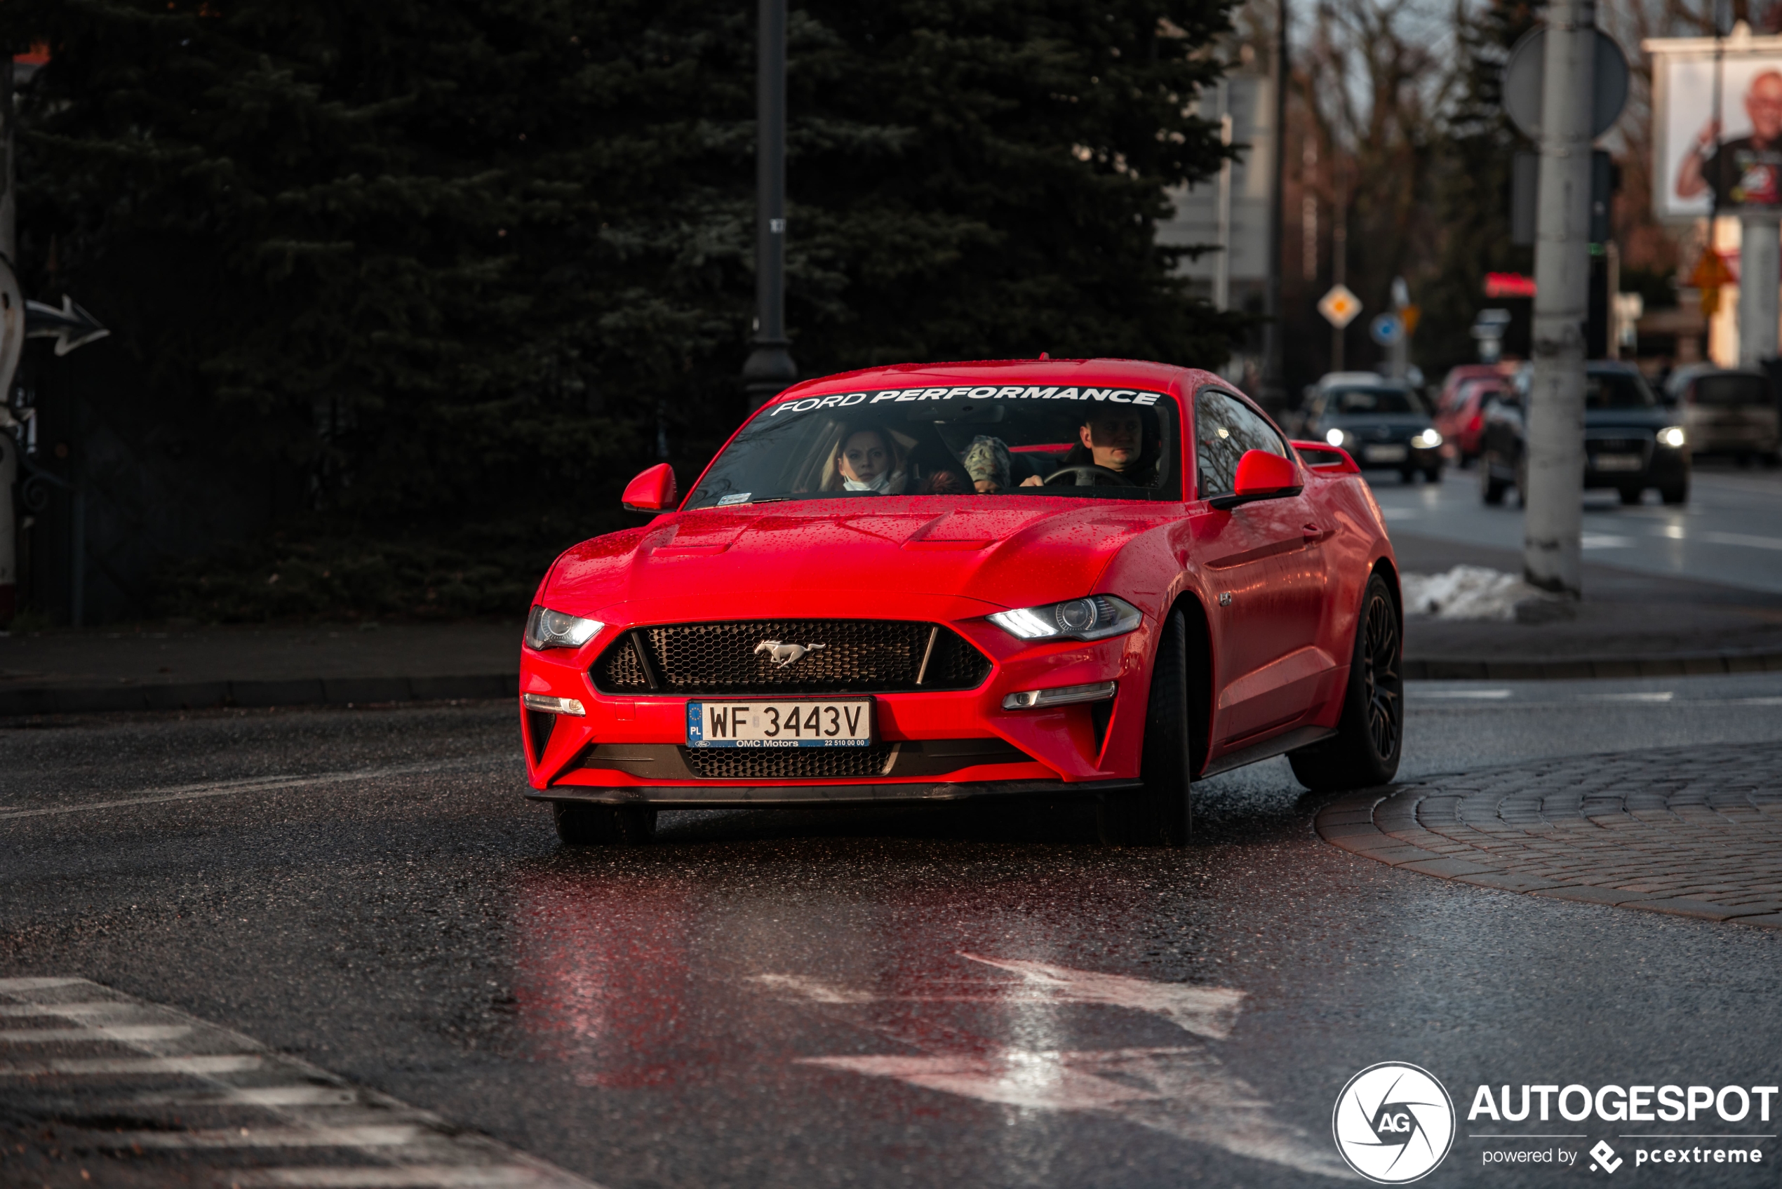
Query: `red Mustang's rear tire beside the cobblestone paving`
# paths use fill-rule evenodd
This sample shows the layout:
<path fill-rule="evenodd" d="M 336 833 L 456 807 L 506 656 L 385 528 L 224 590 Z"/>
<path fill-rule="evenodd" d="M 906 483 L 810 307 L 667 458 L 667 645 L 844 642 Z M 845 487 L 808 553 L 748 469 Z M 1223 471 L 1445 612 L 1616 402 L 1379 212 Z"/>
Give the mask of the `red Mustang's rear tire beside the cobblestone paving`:
<path fill-rule="evenodd" d="M 1402 749 L 1404 624 L 1386 579 L 1374 574 L 1361 592 L 1336 734 L 1287 752 L 1287 761 L 1313 791 L 1372 788 L 1397 775 Z"/>

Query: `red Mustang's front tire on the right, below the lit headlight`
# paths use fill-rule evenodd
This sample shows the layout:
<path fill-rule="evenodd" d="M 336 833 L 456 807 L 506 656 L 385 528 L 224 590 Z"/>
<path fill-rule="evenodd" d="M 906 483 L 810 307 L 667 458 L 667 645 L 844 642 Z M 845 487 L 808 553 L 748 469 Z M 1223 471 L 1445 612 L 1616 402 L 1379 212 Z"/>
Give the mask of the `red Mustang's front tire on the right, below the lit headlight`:
<path fill-rule="evenodd" d="M 1096 829 L 1108 847 L 1183 847 L 1194 832 L 1189 747 L 1189 647 L 1181 611 L 1164 620 L 1144 711 L 1144 788 L 1105 793 Z"/>

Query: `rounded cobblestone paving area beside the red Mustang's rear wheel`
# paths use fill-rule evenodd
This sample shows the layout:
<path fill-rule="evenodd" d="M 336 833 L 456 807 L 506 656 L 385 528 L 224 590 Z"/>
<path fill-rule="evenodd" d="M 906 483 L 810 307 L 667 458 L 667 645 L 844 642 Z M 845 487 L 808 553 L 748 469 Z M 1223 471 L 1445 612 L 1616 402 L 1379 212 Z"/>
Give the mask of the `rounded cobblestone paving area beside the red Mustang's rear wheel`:
<path fill-rule="evenodd" d="M 1782 929 L 1782 743 L 1438 775 L 1344 797 L 1317 831 L 1481 888 Z"/>

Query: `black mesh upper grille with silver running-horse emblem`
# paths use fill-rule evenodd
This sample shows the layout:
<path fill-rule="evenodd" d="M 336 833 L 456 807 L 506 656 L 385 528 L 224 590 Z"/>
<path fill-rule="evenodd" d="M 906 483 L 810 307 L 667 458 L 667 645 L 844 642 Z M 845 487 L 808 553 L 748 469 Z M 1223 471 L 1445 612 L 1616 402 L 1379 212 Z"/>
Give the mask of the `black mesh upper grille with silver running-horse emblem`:
<path fill-rule="evenodd" d="M 602 693 L 896 693 L 975 688 L 991 661 L 937 624 L 775 619 L 634 627 L 592 672 Z"/>

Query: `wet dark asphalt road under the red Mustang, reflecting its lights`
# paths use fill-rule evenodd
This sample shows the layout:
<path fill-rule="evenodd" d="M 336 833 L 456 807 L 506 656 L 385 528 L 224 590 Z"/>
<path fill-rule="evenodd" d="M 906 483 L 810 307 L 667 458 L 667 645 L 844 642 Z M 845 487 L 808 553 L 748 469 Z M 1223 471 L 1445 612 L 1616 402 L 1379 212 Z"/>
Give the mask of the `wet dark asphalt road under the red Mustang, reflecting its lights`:
<path fill-rule="evenodd" d="M 1773 674 L 1410 704 L 1410 777 L 1782 738 Z M 1198 786 L 1183 852 L 1044 806 L 665 815 L 576 852 L 519 797 L 508 706 L 68 718 L 0 727 L 0 977 L 176 1007 L 613 1189 L 1331 1184 L 1331 1105 L 1379 1061 L 1461 1109 L 1424 1184 L 1554 1184 L 1588 1157 L 1483 1164 L 1477 1084 L 1782 1075 L 1777 932 L 1342 854 L 1285 761 Z M 212 1184 L 52 1157 L 21 1093 L 0 1180 Z M 1563 1130 L 1527 1146 L 1625 1127 Z M 1775 1184 L 1762 1146 L 1614 1180 Z"/>

